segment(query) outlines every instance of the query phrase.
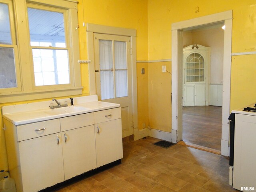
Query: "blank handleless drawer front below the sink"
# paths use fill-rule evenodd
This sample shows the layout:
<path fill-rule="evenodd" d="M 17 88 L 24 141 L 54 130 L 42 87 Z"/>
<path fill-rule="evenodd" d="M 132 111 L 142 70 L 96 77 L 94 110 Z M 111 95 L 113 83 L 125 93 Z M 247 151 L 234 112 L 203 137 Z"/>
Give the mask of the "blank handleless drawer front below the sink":
<path fill-rule="evenodd" d="M 61 131 L 85 127 L 94 124 L 93 113 L 86 113 L 76 116 L 60 118 Z"/>

